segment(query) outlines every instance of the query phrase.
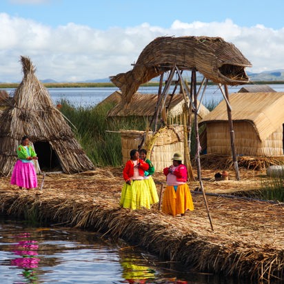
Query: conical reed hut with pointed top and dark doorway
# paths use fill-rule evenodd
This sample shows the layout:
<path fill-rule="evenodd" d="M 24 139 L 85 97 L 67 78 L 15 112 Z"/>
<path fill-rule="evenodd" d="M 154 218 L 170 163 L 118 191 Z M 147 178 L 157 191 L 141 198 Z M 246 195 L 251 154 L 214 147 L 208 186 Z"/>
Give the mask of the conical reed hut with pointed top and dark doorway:
<path fill-rule="evenodd" d="M 21 63 L 23 80 L 14 92 L 14 104 L 1 114 L 0 175 L 11 174 L 23 135 L 30 136 L 42 170 L 74 173 L 93 169 L 48 90 L 35 76 L 30 59 L 21 57 Z"/>

